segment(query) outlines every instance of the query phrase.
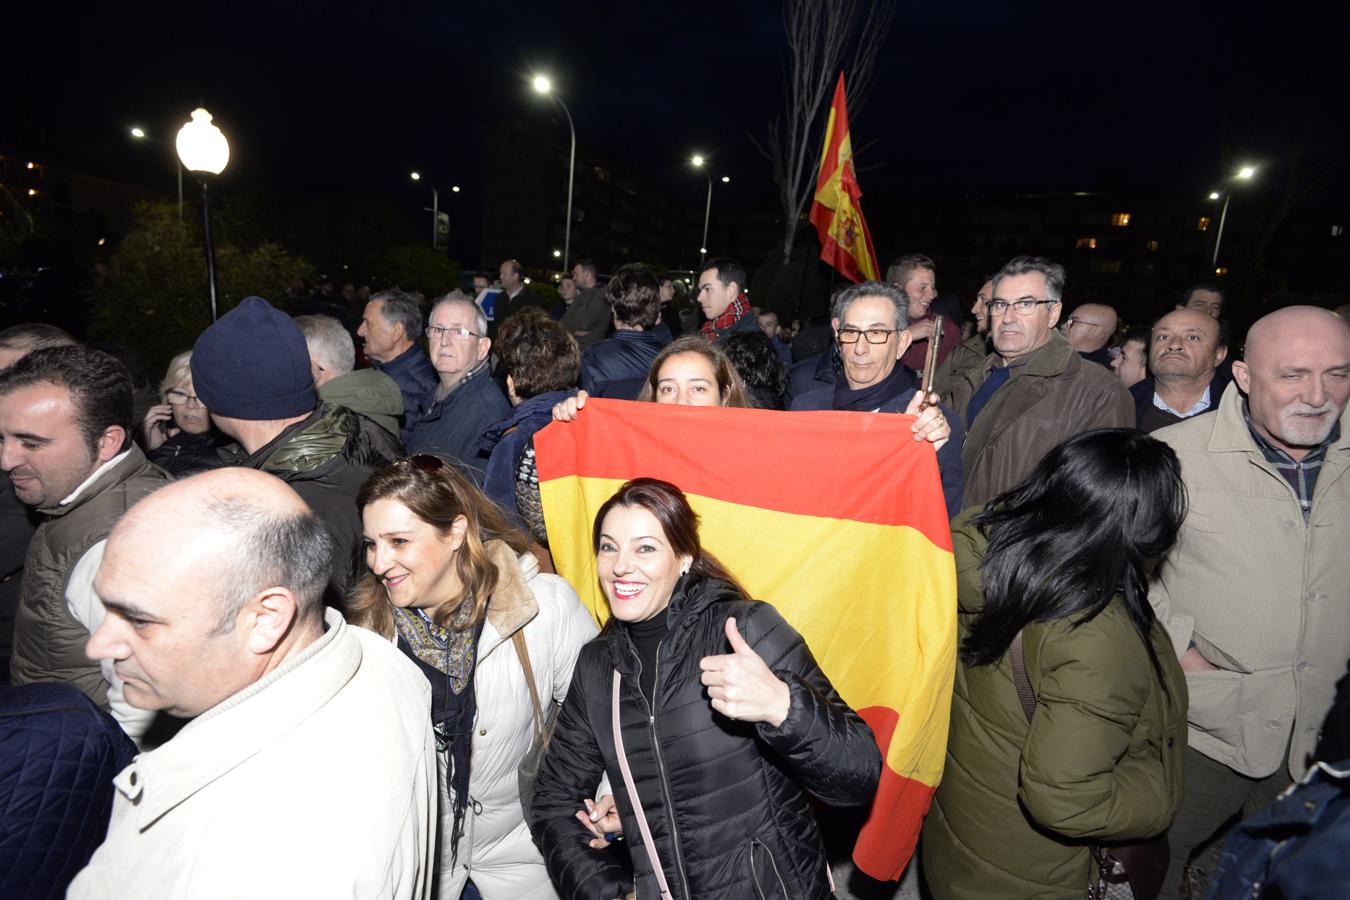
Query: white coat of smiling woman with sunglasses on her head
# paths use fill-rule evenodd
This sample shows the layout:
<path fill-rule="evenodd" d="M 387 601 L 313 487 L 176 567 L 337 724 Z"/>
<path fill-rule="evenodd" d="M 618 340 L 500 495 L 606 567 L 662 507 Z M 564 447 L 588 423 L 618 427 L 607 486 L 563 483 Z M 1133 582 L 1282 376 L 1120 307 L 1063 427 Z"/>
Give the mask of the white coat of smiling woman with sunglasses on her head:
<path fill-rule="evenodd" d="M 437 891 L 441 900 L 459 900 L 468 878 L 474 880 L 483 900 L 544 900 L 558 896 L 544 860 L 531 841 L 520 806 L 517 772 L 533 739 L 535 710 L 510 637 L 520 629 L 525 630 L 536 690 L 547 714 L 549 700 L 562 703 L 567 696 L 576 654 L 598 629 L 567 582 L 541 573 L 529 553 L 517 559 L 505 545 L 495 549 L 493 561 L 501 571 L 501 579 L 489 600 L 487 621 L 478 640 L 474 671 L 478 719 L 470 761 L 470 800 L 454 864 L 444 843 L 451 834 L 452 819 L 441 791 L 443 843 Z M 446 754 L 439 756 L 440 783 L 444 785 Z"/>

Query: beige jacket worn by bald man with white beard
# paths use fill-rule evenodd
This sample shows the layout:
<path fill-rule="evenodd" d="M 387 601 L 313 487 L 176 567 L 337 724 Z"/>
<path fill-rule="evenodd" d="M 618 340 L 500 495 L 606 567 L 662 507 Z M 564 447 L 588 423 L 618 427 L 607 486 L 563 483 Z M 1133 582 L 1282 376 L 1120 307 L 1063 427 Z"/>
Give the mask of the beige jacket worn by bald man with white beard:
<path fill-rule="evenodd" d="M 1304 525 L 1242 399 L 1230 385 L 1214 416 L 1153 433 L 1181 460 L 1189 511 L 1149 599 L 1179 656 L 1193 640 L 1219 667 L 1187 675 L 1191 746 L 1250 777 L 1287 758 L 1299 779 L 1350 658 L 1350 424 Z"/>

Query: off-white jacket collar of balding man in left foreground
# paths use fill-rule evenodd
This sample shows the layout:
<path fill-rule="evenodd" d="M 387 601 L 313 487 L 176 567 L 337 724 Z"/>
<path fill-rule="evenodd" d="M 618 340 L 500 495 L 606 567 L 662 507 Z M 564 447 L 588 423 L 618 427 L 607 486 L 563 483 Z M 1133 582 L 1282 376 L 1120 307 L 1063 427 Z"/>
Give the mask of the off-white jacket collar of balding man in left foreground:
<path fill-rule="evenodd" d="M 136 807 L 138 830 L 300 727 L 351 681 L 362 658 L 354 626 L 332 609 L 324 610 L 324 625 L 323 637 L 294 658 L 207 710 L 113 779 Z"/>

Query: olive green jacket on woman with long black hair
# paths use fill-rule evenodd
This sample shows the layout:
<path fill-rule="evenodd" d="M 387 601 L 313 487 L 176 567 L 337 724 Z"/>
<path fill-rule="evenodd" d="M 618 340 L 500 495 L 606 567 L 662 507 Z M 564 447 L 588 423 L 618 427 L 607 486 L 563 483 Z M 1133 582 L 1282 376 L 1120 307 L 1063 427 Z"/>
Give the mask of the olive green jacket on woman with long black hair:
<path fill-rule="evenodd" d="M 972 513 L 952 534 L 961 640 L 984 606 Z M 946 766 L 923 826 L 937 900 L 1081 900 L 1089 845 L 1160 834 L 1181 806 L 1187 692 L 1166 631 L 1152 631 L 1161 684 L 1120 598 L 1079 627 L 1027 625 L 1022 644 L 1030 726 L 1007 654 L 957 664 Z"/>

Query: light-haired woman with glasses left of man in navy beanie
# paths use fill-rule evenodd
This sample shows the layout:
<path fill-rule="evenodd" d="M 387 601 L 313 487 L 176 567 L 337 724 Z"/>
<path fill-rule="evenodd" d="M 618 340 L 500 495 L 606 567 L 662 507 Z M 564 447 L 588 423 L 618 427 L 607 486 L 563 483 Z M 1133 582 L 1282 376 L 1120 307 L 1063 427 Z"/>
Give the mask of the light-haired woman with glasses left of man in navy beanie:
<path fill-rule="evenodd" d="M 146 459 L 177 478 L 220 468 L 230 439 L 211 425 L 211 410 L 192 389 L 192 351 L 173 358 L 159 386 L 163 403 L 146 413 Z"/>

